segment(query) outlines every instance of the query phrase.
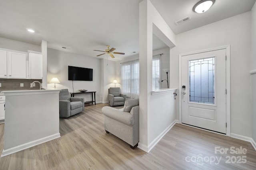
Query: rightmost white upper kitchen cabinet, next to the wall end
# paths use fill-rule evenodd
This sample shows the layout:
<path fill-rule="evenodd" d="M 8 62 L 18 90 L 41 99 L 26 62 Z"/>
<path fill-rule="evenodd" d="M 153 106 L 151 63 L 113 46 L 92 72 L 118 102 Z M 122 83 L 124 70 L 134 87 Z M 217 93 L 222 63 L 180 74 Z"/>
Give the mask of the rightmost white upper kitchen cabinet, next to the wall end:
<path fill-rule="evenodd" d="M 42 79 L 43 77 L 43 61 L 42 53 L 29 51 L 30 61 L 30 79 Z"/>

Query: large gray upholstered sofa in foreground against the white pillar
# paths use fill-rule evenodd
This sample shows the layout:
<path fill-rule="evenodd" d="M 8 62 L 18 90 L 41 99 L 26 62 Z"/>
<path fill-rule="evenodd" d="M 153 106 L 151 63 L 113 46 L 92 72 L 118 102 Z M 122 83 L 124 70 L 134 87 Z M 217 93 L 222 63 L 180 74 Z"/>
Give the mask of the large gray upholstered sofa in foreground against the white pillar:
<path fill-rule="evenodd" d="M 132 149 L 139 142 L 139 98 L 126 99 L 123 109 L 105 106 L 105 131 L 112 133 L 130 145 Z"/>

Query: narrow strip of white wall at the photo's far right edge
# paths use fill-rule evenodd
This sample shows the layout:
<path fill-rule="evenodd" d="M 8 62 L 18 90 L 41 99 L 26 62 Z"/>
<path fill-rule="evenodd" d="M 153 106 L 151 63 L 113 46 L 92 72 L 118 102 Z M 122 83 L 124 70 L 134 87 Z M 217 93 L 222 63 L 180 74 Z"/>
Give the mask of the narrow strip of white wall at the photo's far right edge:
<path fill-rule="evenodd" d="M 252 8 L 252 29 L 251 29 L 251 70 L 256 70 L 256 3 Z M 252 139 L 256 141 L 256 74 L 252 74 Z"/>

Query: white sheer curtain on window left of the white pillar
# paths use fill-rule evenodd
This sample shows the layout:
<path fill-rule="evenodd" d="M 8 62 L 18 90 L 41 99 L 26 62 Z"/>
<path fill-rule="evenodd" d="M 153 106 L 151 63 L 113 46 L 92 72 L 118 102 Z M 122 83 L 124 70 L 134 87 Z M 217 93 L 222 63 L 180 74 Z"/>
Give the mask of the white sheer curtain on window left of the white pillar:
<path fill-rule="evenodd" d="M 130 61 L 122 63 L 121 78 L 122 78 L 122 93 L 129 98 L 139 96 L 139 76 L 140 76 L 139 61 Z"/>

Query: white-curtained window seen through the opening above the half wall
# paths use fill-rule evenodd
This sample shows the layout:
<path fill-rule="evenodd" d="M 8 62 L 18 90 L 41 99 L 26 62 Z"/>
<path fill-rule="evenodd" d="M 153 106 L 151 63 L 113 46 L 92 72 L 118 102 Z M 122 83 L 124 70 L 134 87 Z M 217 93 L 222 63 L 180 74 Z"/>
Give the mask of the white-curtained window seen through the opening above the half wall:
<path fill-rule="evenodd" d="M 160 55 L 153 56 L 152 58 L 152 88 L 153 90 L 160 89 L 161 81 L 161 57 Z"/>

